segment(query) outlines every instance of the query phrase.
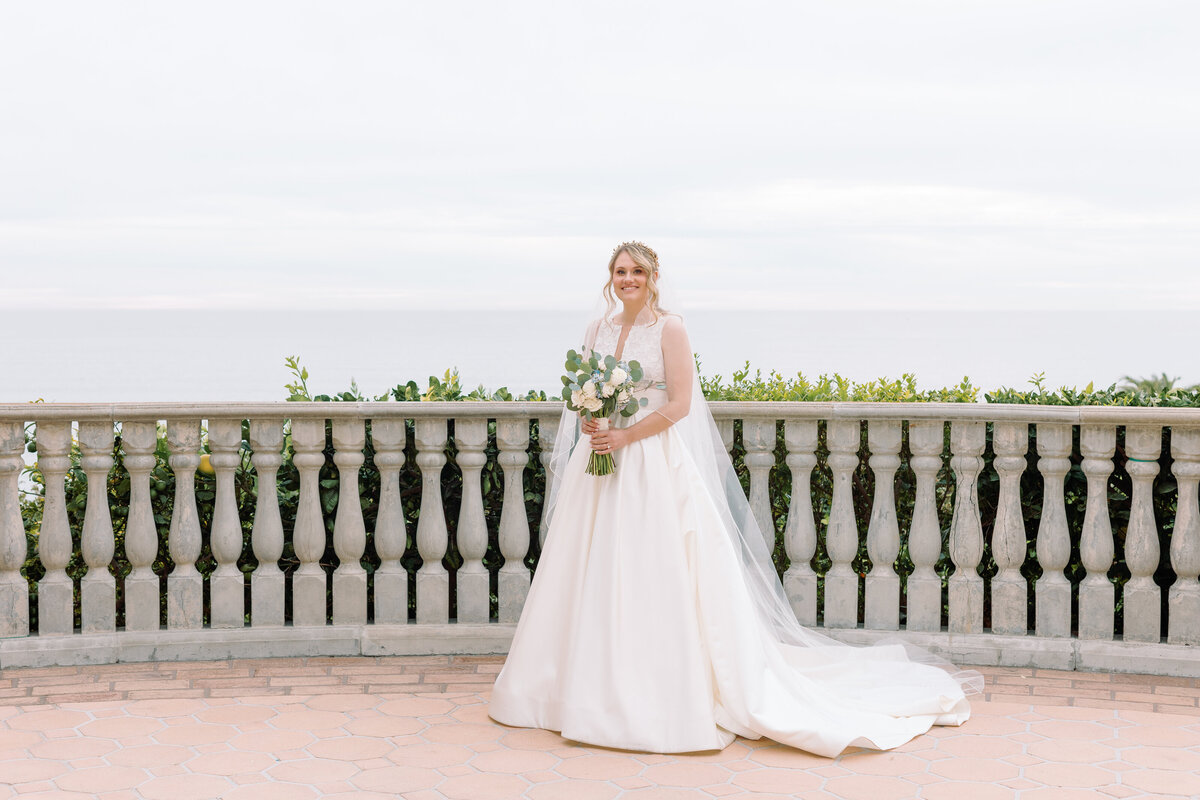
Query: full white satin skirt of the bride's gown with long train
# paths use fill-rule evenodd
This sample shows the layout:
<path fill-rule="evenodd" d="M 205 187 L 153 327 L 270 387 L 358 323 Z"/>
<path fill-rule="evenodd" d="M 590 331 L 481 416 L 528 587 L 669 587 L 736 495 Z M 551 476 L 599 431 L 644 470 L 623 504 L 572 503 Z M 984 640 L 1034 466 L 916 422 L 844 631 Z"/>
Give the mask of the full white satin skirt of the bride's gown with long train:
<path fill-rule="evenodd" d="M 887 750 L 970 708 L 904 648 L 780 643 L 758 621 L 698 469 L 673 428 L 584 474 L 582 439 L 491 716 L 622 750 L 720 750 L 734 734 L 821 756 Z"/>

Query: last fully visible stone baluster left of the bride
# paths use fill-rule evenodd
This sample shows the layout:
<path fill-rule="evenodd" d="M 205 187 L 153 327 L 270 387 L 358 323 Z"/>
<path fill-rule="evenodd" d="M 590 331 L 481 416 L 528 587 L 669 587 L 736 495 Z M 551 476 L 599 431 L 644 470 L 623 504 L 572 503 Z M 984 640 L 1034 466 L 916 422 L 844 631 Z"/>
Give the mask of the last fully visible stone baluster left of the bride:
<path fill-rule="evenodd" d="M 524 557 L 529 552 L 529 517 L 524 505 L 524 468 L 529 463 L 528 420 L 497 420 L 496 441 L 500 446 L 504 468 L 504 506 L 500 510 L 500 554 L 504 565 L 499 575 L 500 621 L 521 618 L 529 594 L 529 570 Z M 580 445 L 586 446 L 586 445 Z"/>

